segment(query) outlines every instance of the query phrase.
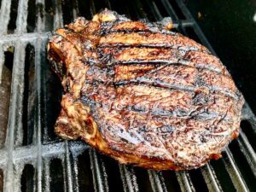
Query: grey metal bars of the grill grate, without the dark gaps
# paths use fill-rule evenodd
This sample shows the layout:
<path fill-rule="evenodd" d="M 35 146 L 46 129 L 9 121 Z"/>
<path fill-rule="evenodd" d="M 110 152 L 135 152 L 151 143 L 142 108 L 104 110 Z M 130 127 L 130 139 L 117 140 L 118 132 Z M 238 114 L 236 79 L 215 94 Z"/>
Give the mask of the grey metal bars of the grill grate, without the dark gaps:
<path fill-rule="evenodd" d="M 61 139 L 56 139 L 55 137 L 49 138 L 49 130 L 52 127 L 48 127 L 50 124 L 45 124 L 44 121 L 47 119 L 44 117 L 47 113 L 47 89 L 48 79 L 52 78 L 53 74 L 49 73 L 49 68 L 47 68 L 47 63 L 45 60 L 46 50 L 45 46 L 49 36 L 48 30 L 54 30 L 58 27 L 63 26 L 65 19 L 65 13 L 62 12 L 61 2 L 69 3 L 65 6 L 70 6 L 72 9 L 71 17 L 75 18 L 81 15 L 81 9 L 79 9 L 79 0 L 68 0 L 59 1 L 51 0 L 52 12 L 47 12 L 49 10 L 44 9 L 44 0 L 36 0 L 37 7 L 37 20 L 36 27 L 33 32 L 26 32 L 27 29 L 27 15 L 28 15 L 28 0 L 20 0 L 18 4 L 18 15 L 16 19 L 16 29 L 13 34 L 8 34 L 8 25 L 10 20 L 10 9 L 11 4 L 14 1 L 2 0 L 1 10 L 0 10 L 0 79 L 2 77 L 2 68 L 4 63 L 4 50 L 8 49 L 10 46 L 15 47 L 14 53 L 14 66 L 12 72 L 12 86 L 11 86 L 11 98 L 9 105 L 9 123 L 7 127 L 6 141 L 3 148 L 0 148 L 0 169 L 3 170 L 3 189 L 7 192 L 20 191 L 20 179 L 22 171 L 26 165 L 31 165 L 34 167 L 34 183 L 35 186 L 31 186 L 32 189 L 29 191 L 50 191 L 52 178 L 50 177 L 49 166 L 52 160 L 60 160 L 63 177 L 63 190 L 67 192 L 79 192 L 81 191 L 79 187 L 79 155 L 83 153 L 88 154 L 90 159 L 90 171 L 92 173 L 93 188 L 96 191 L 111 191 L 114 186 L 109 185 L 111 175 L 102 160 L 101 156 L 96 153 L 94 149 L 89 148 L 85 143 L 79 141 L 63 141 Z M 103 2 L 103 3 L 102 3 Z M 104 0 L 104 1 L 92 1 L 87 0 L 90 5 L 86 7 L 87 15 L 94 15 L 101 6 L 111 8 L 117 0 Z M 49 3 L 49 2 L 47 2 Z M 165 16 L 171 16 L 174 21 L 174 26 L 177 31 L 189 36 L 190 27 L 202 44 L 207 46 L 208 49 L 215 54 L 212 49 L 211 44 L 208 43 L 207 38 L 201 32 L 200 27 L 197 25 L 192 15 L 189 13 L 189 9 L 182 0 L 168 1 L 168 0 L 136 0 L 135 3 L 124 2 L 124 6 L 128 9 L 121 9 L 127 16 L 136 16 L 137 19 L 143 16 L 147 20 L 160 20 Z M 102 7 L 103 9 L 103 7 Z M 135 10 L 136 13 L 132 11 Z M 118 11 L 118 10 L 117 10 Z M 47 12 L 47 13 L 46 13 Z M 90 14 L 88 14 L 90 12 Z M 165 14 L 164 14 L 165 13 Z M 45 15 L 53 17 L 53 28 L 49 28 L 47 24 L 48 19 Z M 52 14 L 52 15 L 51 15 Z M 63 17 L 64 14 L 64 17 Z M 183 16 L 181 16 L 183 15 Z M 35 125 L 33 131 L 33 139 L 30 145 L 22 146 L 20 141 L 22 141 L 23 134 L 26 134 L 22 130 L 22 119 L 20 119 L 22 112 L 22 101 L 24 87 L 24 63 L 26 55 L 26 45 L 31 44 L 35 49 L 35 84 L 37 85 L 37 90 L 35 92 L 36 105 L 35 105 Z M 49 77 L 49 75 L 51 75 Z M 242 112 L 242 119 L 247 120 L 254 132 L 256 132 L 256 118 L 249 106 L 245 105 Z M 253 150 L 251 142 L 247 135 L 241 131 L 240 137 L 237 139 L 240 146 L 238 150 L 245 156 L 247 164 L 250 167 L 248 172 L 252 172 L 253 177 L 256 177 L 256 154 Z M 22 142 L 21 142 L 22 143 Z M 246 178 L 241 173 L 241 167 L 236 165 L 236 158 L 234 159 L 229 148 L 224 151 L 224 158 L 221 160 L 224 163 L 225 170 L 230 176 L 230 180 L 233 184 L 233 188 L 237 191 L 253 191 L 252 183 L 248 183 Z M 131 166 L 116 165 L 121 181 L 123 184 L 123 189 L 125 192 L 137 192 L 140 191 L 140 186 L 137 181 L 137 172 Z M 172 171 L 170 171 L 172 172 Z M 203 182 L 206 183 L 207 190 L 209 191 L 219 191 L 222 192 L 224 188 L 223 178 L 218 177 L 217 172 L 214 170 L 214 166 L 208 163 L 206 166 L 201 167 L 200 172 L 204 179 Z M 162 172 L 148 171 L 148 180 L 150 182 L 149 191 L 171 191 L 168 188 L 169 185 L 165 177 L 163 177 Z M 196 191 L 196 183 L 193 182 L 192 172 L 175 172 L 177 176 L 177 183 L 179 183 L 179 189 L 177 191 Z M 193 177 L 192 177 L 193 178 Z M 146 178 L 145 178 L 146 179 Z M 88 184 L 88 183 L 86 183 Z M 1 189 L 1 187 L 0 187 Z M 28 189 L 27 189 L 28 191 Z"/>

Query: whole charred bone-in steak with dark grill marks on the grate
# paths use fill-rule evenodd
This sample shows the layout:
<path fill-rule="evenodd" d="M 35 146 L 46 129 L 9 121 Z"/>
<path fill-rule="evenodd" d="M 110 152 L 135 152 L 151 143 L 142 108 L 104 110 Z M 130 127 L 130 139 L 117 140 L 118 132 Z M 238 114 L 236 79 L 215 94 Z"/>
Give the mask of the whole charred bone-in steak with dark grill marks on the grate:
<path fill-rule="evenodd" d="M 238 136 L 243 97 L 221 61 L 170 21 L 105 9 L 55 31 L 48 52 L 64 90 L 60 137 L 155 170 L 221 157 Z"/>

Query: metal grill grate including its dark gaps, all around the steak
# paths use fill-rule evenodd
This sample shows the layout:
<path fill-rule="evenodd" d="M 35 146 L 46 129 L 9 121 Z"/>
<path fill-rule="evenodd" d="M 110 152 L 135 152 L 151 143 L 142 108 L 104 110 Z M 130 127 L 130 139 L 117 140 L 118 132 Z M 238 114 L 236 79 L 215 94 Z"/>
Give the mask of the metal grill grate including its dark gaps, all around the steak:
<path fill-rule="evenodd" d="M 246 104 L 241 133 L 224 158 L 189 172 L 154 172 L 96 153 L 53 131 L 61 84 L 49 69 L 49 32 L 108 8 L 138 20 L 171 16 L 175 29 L 215 53 L 182 0 L 0 0 L 0 191 L 253 191 L 256 118 Z"/>

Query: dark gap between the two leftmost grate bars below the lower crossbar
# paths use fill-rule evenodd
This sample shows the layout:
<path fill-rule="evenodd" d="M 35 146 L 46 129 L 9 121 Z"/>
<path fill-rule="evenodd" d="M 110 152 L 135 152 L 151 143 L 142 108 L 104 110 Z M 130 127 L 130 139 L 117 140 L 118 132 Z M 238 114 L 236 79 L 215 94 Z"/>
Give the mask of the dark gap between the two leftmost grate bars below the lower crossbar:
<path fill-rule="evenodd" d="M 32 165 L 26 164 L 20 179 L 21 192 L 33 192 L 35 185 L 35 170 Z M 1 191 L 1 190 L 0 190 Z"/>

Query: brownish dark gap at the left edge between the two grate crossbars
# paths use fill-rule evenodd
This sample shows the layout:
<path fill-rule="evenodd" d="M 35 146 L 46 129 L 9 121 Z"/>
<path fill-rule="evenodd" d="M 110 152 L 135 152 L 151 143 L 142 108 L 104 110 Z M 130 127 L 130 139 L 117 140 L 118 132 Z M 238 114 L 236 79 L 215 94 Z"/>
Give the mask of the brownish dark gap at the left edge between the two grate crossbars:
<path fill-rule="evenodd" d="M 3 148 L 5 142 L 6 130 L 9 119 L 9 102 L 14 65 L 14 53 L 14 47 L 9 47 L 9 49 L 4 52 L 5 57 L 2 68 L 2 78 L 0 82 L 0 148 Z"/>

